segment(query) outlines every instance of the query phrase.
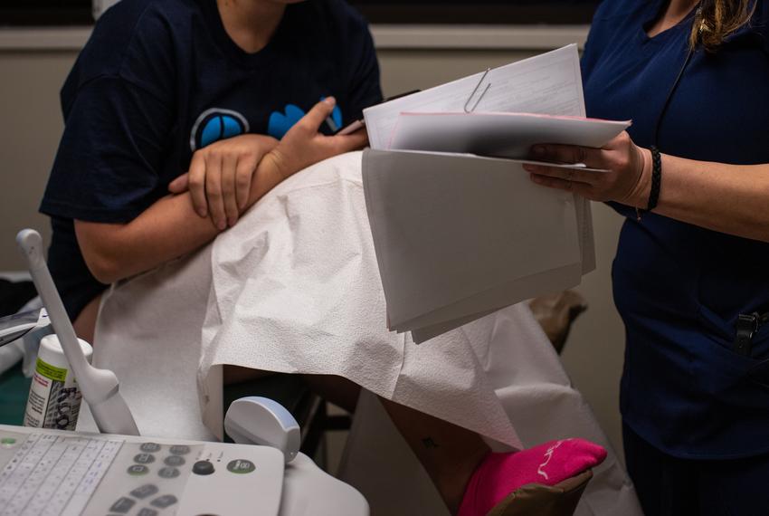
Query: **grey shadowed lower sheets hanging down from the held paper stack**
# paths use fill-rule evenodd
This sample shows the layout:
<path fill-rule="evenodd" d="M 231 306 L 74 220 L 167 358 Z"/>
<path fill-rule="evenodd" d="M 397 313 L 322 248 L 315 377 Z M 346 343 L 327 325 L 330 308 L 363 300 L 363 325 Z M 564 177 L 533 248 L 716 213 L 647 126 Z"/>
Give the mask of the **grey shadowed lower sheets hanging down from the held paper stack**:
<path fill-rule="evenodd" d="M 363 167 L 391 330 L 422 342 L 580 282 L 574 197 L 520 163 L 367 150 Z"/>

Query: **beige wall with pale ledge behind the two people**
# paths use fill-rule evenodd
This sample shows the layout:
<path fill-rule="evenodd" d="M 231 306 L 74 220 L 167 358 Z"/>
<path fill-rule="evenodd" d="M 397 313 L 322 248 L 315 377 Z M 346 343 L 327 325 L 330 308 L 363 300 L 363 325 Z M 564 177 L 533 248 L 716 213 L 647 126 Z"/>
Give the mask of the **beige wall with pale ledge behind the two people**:
<path fill-rule="evenodd" d="M 48 222 L 37 214 L 37 206 L 62 132 L 59 89 L 85 35 L 63 31 L 46 43 L 44 33 L 0 30 L 0 271 L 23 268 L 13 244 L 20 228 L 32 226 L 48 235 Z M 584 28 L 375 30 L 375 39 L 383 89 L 392 95 L 584 39 Z M 593 223 L 598 268 L 579 288 L 590 308 L 574 326 L 564 362 L 619 449 L 623 330 L 612 304 L 610 266 L 621 219 L 604 205 L 593 205 Z"/>

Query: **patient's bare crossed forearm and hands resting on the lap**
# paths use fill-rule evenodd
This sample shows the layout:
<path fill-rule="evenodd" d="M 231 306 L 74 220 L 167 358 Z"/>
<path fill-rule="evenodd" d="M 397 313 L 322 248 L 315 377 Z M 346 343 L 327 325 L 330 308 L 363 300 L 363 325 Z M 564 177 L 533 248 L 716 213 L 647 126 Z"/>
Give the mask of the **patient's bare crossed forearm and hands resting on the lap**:
<path fill-rule="evenodd" d="M 249 173 L 248 182 L 222 181 L 218 174 L 222 167 L 208 167 L 203 175 L 189 177 L 189 185 L 195 181 L 197 186 L 192 192 L 177 184 L 181 193 L 161 198 L 128 224 L 76 220 L 75 234 L 90 272 L 100 282 L 116 282 L 194 251 L 212 241 L 227 223 L 233 225 L 238 215 L 286 177 L 325 158 L 363 147 L 365 131 L 333 137 L 318 133 L 333 109 L 333 99 L 318 102 L 280 142 L 261 135 L 242 135 L 198 151 L 205 151 L 204 163 L 223 164 L 235 159 L 245 164 L 241 170 Z M 197 159 L 200 163 L 202 158 Z M 203 189 L 202 185 L 212 187 Z M 201 199 L 203 192 L 205 198 Z M 201 212 L 203 206 L 207 209 Z"/>

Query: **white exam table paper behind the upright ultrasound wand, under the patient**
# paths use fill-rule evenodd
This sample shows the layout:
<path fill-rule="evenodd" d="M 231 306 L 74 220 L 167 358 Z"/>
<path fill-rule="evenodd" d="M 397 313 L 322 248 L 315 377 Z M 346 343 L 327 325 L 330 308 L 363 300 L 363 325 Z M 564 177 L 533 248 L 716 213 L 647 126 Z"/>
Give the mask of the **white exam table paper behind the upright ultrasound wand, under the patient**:
<path fill-rule="evenodd" d="M 218 427 L 211 431 L 203 424 L 196 382 L 210 290 L 208 246 L 112 285 L 102 297 L 93 364 L 118 376 L 141 435 L 198 440 L 219 435 Z M 221 370 L 213 373 L 221 399 Z M 210 406 L 221 426 L 221 406 Z M 81 411 L 78 429 L 97 431 L 88 410 Z"/>

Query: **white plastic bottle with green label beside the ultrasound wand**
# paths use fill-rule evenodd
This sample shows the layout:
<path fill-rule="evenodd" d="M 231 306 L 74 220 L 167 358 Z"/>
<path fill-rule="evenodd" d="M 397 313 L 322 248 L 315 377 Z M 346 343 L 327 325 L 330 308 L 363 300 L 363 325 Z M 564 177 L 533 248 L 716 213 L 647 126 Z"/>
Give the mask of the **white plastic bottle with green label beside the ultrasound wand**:
<path fill-rule="evenodd" d="M 78 339 L 90 362 L 93 349 Z M 82 394 L 72 375 L 62 345 L 56 335 L 46 335 L 40 341 L 32 385 L 27 398 L 24 426 L 74 430 L 81 409 Z"/>

